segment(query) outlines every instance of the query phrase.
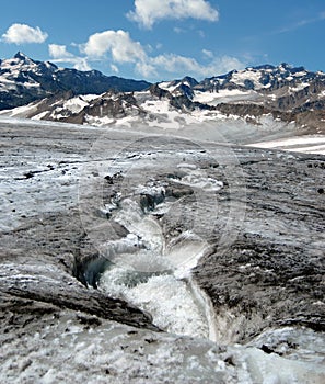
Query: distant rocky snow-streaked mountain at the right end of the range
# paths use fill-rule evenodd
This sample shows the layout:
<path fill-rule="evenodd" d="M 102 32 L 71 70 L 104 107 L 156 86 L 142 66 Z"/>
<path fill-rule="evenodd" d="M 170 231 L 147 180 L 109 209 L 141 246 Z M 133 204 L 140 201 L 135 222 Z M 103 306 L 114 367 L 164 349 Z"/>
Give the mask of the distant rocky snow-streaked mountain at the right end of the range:
<path fill-rule="evenodd" d="M 293 68 L 288 64 L 233 70 L 224 76 L 205 79 L 196 87 L 205 92 L 251 91 L 252 97 L 259 97 L 259 103 L 286 112 L 312 106 L 315 110 L 324 109 L 324 72 L 311 72 L 303 67 Z"/>

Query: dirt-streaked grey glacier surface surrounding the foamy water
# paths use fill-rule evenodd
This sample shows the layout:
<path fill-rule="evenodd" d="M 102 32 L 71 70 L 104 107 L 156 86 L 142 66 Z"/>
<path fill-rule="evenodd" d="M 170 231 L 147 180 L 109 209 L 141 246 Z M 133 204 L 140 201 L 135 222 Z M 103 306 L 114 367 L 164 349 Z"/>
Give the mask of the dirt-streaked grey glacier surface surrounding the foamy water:
<path fill-rule="evenodd" d="M 15 120 L 1 136 L 7 382 L 324 382 L 324 157 Z M 105 290 L 113 264 L 130 289 L 178 279 L 213 342 Z"/>

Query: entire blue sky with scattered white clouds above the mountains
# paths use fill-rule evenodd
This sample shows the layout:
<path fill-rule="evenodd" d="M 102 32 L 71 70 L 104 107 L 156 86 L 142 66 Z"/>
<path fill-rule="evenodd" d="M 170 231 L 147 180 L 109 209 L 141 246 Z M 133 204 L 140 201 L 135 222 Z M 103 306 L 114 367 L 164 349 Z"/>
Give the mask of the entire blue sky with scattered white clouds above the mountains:
<path fill-rule="evenodd" d="M 0 0 L 1 58 L 150 81 L 289 63 L 325 71 L 324 0 Z"/>

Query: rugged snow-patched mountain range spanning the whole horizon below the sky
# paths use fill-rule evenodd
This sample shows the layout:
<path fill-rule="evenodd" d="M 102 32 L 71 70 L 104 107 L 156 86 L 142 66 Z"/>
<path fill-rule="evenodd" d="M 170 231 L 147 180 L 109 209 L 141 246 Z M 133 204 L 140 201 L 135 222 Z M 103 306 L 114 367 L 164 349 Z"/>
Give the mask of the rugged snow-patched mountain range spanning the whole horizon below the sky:
<path fill-rule="evenodd" d="M 325 74 L 264 65 L 200 82 L 184 77 L 152 84 L 58 68 L 18 53 L 0 61 L 0 110 L 10 116 L 97 126 L 182 128 L 232 121 L 256 131 L 271 121 L 278 129 L 294 125 L 299 134 L 324 134 Z"/>

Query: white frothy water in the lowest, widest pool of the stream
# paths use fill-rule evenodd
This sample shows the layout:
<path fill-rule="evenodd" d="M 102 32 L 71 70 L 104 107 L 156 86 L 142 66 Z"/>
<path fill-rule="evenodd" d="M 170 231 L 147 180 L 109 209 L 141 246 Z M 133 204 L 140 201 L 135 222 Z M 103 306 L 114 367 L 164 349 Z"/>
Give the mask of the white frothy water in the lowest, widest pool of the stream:
<path fill-rule="evenodd" d="M 135 279 L 140 281 L 135 282 Z M 169 332 L 209 337 L 204 308 L 196 302 L 186 280 L 178 280 L 174 274 L 146 278 L 144 273 L 139 273 L 137 276 L 136 272 L 113 267 L 102 276 L 101 286 L 149 312 L 153 323 Z"/>

